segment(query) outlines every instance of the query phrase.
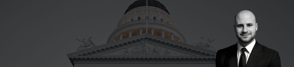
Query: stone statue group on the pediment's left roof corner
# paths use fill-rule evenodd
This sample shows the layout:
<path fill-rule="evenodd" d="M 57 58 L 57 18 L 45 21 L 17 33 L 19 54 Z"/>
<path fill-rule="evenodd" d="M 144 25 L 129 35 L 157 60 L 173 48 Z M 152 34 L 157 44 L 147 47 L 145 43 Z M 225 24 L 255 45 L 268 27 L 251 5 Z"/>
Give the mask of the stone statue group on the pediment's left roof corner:
<path fill-rule="evenodd" d="M 78 40 L 80 42 L 83 42 L 83 44 L 81 44 L 79 47 L 80 48 L 91 48 L 91 47 L 94 47 L 94 43 L 93 41 L 91 40 L 92 37 L 89 37 L 88 40 L 86 41 L 86 38 L 83 38 L 83 40 L 81 39 L 75 39 L 75 40 Z"/>

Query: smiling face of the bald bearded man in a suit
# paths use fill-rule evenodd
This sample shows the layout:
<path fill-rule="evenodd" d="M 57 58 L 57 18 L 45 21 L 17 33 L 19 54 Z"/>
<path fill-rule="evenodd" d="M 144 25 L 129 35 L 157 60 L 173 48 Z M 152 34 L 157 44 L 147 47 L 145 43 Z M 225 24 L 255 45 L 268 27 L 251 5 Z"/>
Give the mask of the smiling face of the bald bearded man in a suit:
<path fill-rule="evenodd" d="M 253 14 L 252 14 L 253 15 Z M 237 15 L 235 18 L 235 32 L 239 41 L 243 43 L 251 42 L 257 31 L 257 23 L 255 21 L 255 17 L 248 15 Z"/>

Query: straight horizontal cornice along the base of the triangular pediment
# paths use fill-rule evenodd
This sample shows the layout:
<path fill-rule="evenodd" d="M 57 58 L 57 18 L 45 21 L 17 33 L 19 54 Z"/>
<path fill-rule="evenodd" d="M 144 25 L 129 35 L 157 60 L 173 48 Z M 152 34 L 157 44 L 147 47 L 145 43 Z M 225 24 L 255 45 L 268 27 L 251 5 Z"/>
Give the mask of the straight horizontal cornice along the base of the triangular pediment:
<path fill-rule="evenodd" d="M 215 64 L 215 57 L 69 57 L 73 64 Z"/>

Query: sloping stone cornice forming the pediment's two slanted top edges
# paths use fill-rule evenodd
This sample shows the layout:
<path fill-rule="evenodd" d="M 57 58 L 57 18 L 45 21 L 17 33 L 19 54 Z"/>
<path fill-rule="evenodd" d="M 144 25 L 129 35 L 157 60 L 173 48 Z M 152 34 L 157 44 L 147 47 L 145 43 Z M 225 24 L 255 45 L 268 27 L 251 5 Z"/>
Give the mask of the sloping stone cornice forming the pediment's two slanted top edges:
<path fill-rule="evenodd" d="M 142 35 L 134 36 L 132 38 L 118 40 L 116 42 L 107 43 L 104 45 L 88 48 L 88 49 L 81 50 L 81 51 L 74 52 L 74 53 L 67 54 L 67 55 L 69 57 L 70 56 L 90 56 L 91 54 L 106 52 L 108 50 L 113 50 L 118 47 L 123 47 L 123 46 L 130 45 L 132 43 L 141 42 L 141 40 L 143 39 L 142 37 L 144 37 L 145 39 L 148 39 L 149 41 L 153 41 L 155 43 L 165 45 L 168 47 L 173 47 L 176 49 L 184 50 L 186 52 L 191 52 L 193 54 L 201 54 L 201 55 L 205 55 L 205 56 L 215 56 L 216 55 L 216 52 L 211 51 L 211 50 L 188 45 L 188 44 L 177 42 L 177 41 L 170 40 L 167 38 L 159 38 L 159 36 L 155 36 L 155 35 L 151 35 L 151 34 L 142 34 Z"/>

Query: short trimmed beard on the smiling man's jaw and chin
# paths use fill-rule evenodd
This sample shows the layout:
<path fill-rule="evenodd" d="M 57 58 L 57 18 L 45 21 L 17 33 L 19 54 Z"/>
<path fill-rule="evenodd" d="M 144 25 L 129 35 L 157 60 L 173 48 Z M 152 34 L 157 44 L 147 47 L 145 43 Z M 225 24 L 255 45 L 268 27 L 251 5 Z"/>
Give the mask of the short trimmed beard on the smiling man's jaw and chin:
<path fill-rule="evenodd" d="M 251 33 L 243 33 L 242 34 L 251 34 Z M 254 38 L 255 38 L 255 35 L 256 35 L 256 32 L 254 34 L 251 34 L 252 36 L 250 37 L 246 37 L 246 38 L 249 38 L 249 40 L 246 40 L 246 38 L 243 38 L 241 36 L 241 34 L 236 34 L 237 38 L 239 41 L 241 41 L 242 43 L 250 43 Z"/>

